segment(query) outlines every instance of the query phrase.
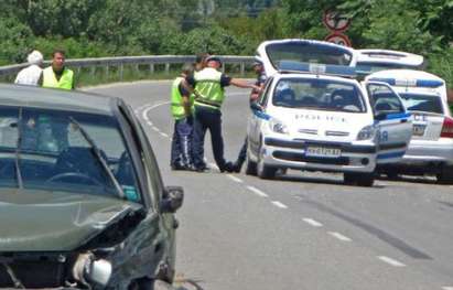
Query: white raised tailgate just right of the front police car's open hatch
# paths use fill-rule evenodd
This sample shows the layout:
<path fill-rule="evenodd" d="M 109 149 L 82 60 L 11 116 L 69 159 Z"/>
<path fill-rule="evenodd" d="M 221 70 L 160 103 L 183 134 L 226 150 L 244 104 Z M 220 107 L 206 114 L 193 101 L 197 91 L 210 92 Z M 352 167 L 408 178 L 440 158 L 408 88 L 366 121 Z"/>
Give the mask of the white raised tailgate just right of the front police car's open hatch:
<path fill-rule="evenodd" d="M 397 63 L 401 65 L 420 66 L 423 56 L 391 50 L 357 50 L 357 63 Z"/>

